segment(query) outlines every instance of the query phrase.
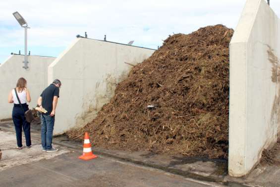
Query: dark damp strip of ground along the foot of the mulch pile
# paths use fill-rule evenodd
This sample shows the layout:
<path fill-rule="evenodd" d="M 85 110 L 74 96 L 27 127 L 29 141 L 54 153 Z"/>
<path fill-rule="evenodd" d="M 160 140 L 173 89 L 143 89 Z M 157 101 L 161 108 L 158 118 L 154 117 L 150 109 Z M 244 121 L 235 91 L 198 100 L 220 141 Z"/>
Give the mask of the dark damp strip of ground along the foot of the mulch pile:
<path fill-rule="evenodd" d="M 13 131 L 12 124 L 8 122 L 0 123 L 0 128 L 6 131 Z M 32 137 L 40 139 L 40 125 L 32 125 Z M 77 141 L 70 141 L 66 136 L 57 136 L 53 140 L 62 147 L 71 147 L 82 150 L 83 144 Z M 207 158 L 185 158 L 180 155 L 156 155 L 148 151 L 114 151 L 100 147 L 93 147 L 93 150 L 102 155 L 110 156 L 116 159 L 129 161 L 135 164 L 141 164 L 166 172 L 182 175 L 184 177 L 209 182 L 222 182 L 227 174 L 227 162 L 225 160 L 210 160 Z"/>

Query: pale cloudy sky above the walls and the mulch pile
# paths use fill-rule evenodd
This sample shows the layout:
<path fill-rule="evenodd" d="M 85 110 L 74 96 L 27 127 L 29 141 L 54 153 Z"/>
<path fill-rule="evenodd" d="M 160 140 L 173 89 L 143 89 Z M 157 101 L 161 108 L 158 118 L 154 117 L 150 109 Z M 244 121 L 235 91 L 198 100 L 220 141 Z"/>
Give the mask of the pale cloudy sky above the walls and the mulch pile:
<path fill-rule="evenodd" d="M 280 15 L 280 0 L 270 0 Z M 24 54 L 24 29 L 13 12 L 27 21 L 31 55 L 57 57 L 76 35 L 157 49 L 173 33 L 224 24 L 235 28 L 245 0 L 2 0 L 0 63 L 11 53 Z"/>

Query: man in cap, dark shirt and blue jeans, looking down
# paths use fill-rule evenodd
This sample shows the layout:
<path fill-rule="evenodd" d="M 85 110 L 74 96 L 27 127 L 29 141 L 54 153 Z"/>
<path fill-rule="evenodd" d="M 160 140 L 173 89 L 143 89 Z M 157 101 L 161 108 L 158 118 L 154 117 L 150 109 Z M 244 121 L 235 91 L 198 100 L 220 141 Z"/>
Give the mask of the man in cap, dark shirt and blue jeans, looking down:
<path fill-rule="evenodd" d="M 52 141 L 60 86 L 60 80 L 54 80 L 54 82 L 42 92 L 38 99 L 38 105 L 41 110 L 43 108 L 47 110 L 47 113 L 42 113 L 41 115 L 42 147 L 43 151 L 47 152 L 54 152 L 58 150 L 52 146 Z"/>

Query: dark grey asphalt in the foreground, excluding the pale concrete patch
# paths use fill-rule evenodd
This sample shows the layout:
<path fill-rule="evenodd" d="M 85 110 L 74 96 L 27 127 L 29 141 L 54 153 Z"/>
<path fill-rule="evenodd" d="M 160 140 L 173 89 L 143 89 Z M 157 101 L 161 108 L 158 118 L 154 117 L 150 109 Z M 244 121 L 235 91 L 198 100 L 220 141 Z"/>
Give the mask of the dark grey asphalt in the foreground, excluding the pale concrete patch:
<path fill-rule="evenodd" d="M 90 161 L 65 153 L 0 172 L 0 187 L 214 187 L 106 157 Z"/>

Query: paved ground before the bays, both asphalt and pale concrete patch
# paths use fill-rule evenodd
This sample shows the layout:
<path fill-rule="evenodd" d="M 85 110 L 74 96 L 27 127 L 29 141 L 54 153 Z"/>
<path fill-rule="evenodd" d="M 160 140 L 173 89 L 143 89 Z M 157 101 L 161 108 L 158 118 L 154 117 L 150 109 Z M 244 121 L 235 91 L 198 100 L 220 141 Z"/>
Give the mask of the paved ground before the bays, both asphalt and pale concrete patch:
<path fill-rule="evenodd" d="M 102 155 L 80 160 L 82 150 L 68 147 L 56 154 L 42 152 L 36 131 L 32 148 L 17 150 L 10 127 L 0 129 L 0 187 L 223 187 Z"/>

